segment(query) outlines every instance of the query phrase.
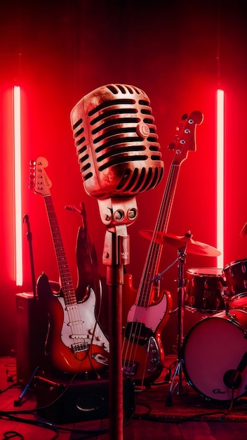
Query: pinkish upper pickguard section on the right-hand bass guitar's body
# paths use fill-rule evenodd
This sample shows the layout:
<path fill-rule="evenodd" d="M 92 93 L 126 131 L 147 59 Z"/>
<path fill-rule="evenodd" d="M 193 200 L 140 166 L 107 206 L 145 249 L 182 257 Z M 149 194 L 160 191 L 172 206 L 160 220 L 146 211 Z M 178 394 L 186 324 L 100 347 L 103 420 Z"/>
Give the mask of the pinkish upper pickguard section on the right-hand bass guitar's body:
<path fill-rule="evenodd" d="M 163 296 L 161 302 L 154 304 L 154 306 L 140 307 L 135 304 L 131 307 L 128 312 L 128 323 L 138 322 L 143 323 L 147 328 L 150 328 L 155 332 L 159 323 L 163 319 L 167 310 L 167 297 Z"/>

